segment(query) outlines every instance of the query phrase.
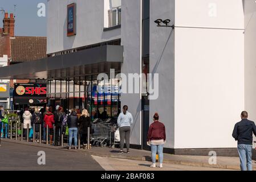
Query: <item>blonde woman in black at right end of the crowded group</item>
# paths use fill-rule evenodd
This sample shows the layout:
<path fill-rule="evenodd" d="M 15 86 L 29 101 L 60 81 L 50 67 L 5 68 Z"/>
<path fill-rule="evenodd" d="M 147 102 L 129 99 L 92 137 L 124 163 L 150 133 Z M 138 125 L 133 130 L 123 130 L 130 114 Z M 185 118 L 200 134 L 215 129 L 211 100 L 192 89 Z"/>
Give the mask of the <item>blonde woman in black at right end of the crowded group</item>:
<path fill-rule="evenodd" d="M 90 127 L 90 133 L 92 131 L 91 117 L 86 109 L 82 111 L 82 115 L 80 116 L 78 123 L 79 133 L 82 136 L 81 142 L 83 143 L 83 146 L 85 146 L 87 143 L 87 128 Z"/>

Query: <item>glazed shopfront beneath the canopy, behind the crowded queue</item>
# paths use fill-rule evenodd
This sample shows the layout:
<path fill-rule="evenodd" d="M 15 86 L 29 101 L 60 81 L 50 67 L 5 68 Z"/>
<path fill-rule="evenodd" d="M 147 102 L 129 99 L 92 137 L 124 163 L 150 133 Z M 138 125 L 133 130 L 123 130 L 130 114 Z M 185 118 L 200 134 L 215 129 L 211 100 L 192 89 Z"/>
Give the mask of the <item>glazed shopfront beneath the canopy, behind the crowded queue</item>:
<path fill-rule="evenodd" d="M 60 105 L 66 110 L 87 109 L 92 120 L 116 118 L 121 107 L 121 94 L 116 86 L 119 80 L 112 79 L 113 85 L 109 84 L 108 92 L 103 93 L 97 92 L 99 82 L 97 75 L 48 80 L 48 105 Z M 109 83 L 111 83 L 110 79 Z M 113 92 L 111 92 L 111 87 Z"/>

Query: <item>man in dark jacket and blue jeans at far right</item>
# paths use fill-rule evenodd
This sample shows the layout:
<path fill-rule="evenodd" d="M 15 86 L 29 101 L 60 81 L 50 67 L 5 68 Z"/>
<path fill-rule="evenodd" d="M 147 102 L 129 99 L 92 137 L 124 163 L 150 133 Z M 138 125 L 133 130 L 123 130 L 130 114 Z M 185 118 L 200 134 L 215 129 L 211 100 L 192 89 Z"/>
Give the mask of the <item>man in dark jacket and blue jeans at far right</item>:
<path fill-rule="evenodd" d="M 240 158 L 241 171 L 252 171 L 251 150 L 253 147 L 253 134 L 256 136 L 256 126 L 253 121 L 247 119 L 248 113 L 242 111 L 242 121 L 235 124 L 233 138 L 237 140 L 238 154 Z"/>

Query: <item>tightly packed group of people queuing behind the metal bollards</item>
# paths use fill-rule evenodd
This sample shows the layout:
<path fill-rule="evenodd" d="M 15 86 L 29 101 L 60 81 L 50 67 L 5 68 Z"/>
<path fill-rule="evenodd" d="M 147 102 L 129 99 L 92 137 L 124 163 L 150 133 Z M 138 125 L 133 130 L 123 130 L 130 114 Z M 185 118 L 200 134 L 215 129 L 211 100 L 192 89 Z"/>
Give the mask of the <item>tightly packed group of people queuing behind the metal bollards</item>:
<path fill-rule="evenodd" d="M 46 131 L 48 126 L 48 141 L 50 144 L 60 146 L 61 134 L 66 133 L 68 130 L 68 149 L 71 150 L 72 140 L 74 139 L 75 149 L 78 148 L 78 131 L 81 134 L 81 141 L 83 145 L 87 143 L 87 128 L 91 129 L 91 117 L 86 109 L 81 113 L 79 109 L 70 110 L 70 114 L 66 115 L 63 107 L 56 106 L 55 111 L 52 111 L 52 107 L 45 107 L 44 110 L 39 110 L 35 107 L 33 114 L 26 108 L 22 115 L 23 118 L 23 137 L 27 139 L 27 131 L 31 133 L 32 126 L 35 124 L 35 142 L 39 143 L 40 137 L 42 142 L 46 142 Z M 0 112 L 1 118 L 1 112 Z M 42 136 L 40 136 L 40 125 Z M 53 141 L 55 125 L 55 140 Z M 27 130 L 29 127 L 29 130 Z M 63 129 L 63 130 L 62 130 Z"/>

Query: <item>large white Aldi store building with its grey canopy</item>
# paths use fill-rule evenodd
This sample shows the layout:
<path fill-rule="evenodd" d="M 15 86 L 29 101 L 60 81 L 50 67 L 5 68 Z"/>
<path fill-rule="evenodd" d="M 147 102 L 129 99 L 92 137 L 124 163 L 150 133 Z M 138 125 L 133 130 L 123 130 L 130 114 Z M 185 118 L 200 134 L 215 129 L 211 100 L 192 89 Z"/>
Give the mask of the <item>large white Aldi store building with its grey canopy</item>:
<path fill-rule="evenodd" d="M 48 57 L 11 65 L 0 75 L 44 78 L 48 105 L 88 109 L 93 118 L 115 118 L 128 105 L 134 120 L 132 147 L 148 149 L 147 131 L 157 112 L 166 127 L 165 152 L 208 155 L 216 151 L 218 156 L 236 156 L 234 124 L 242 110 L 255 108 L 247 104 L 249 88 L 245 89 L 243 32 L 248 4 L 239 0 L 50 0 Z M 170 19 L 174 29 L 157 27 L 154 21 L 160 18 Z M 157 74 L 157 97 L 149 97 L 156 93 L 119 93 L 120 78 L 111 78 L 111 69 L 115 76 L 132 75 L 132 80 L 136 74 Z M 108 75 L 107 87 L 113 92 L 97 92 L 100 73 Z M 136 82 L 131 82 L 135 91 Z"/>

